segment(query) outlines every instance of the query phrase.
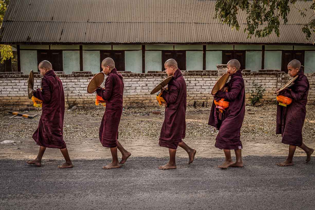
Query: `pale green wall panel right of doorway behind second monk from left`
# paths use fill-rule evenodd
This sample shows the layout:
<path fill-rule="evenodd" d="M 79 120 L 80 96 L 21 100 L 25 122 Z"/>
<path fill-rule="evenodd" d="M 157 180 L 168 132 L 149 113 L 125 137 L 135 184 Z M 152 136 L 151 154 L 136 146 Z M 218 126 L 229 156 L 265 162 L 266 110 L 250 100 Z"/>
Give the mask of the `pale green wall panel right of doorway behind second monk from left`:
<path fill-rule="evenodd" d="M 125 70 L 142 73 L 142 51 L 125 51 Z"/>

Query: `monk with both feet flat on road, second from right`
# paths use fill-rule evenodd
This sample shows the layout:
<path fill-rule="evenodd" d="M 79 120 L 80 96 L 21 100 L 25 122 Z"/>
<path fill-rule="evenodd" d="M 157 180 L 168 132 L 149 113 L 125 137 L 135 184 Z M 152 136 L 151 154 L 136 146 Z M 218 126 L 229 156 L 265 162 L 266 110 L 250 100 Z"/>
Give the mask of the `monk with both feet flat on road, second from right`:
<path fill-rule="evenodd" d="M 223 149 L 225 162 L 219 165 L 219 168 L 243 167 L 242 161 L 242 142 L 240 140 L 241 127 L 245 116 L 245 86 L 241 71 L 241 64 L 238 60 L 233 59 L 227 63 L 227 72 L 231 79 L 223 90 L 214 95 L 214 100 L 219 101 L 221 98 L 230 102 L 229 107 L 225 109 L 221 120 L 219 113 L 212 103 L 209 125 L 219 130 L 215 139 L 215 147 Z M 226 92 L 226 90 L 228 92 Z M 231 159 L 231 149 L 235 151 L 236 162 Z"/>

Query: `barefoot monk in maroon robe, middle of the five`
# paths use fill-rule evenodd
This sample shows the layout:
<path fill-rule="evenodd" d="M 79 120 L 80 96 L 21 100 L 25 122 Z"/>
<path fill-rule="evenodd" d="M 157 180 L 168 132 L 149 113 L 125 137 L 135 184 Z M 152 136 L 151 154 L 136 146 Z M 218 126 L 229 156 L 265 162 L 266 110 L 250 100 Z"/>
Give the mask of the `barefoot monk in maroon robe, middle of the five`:
<path fill-rule="evenodd" d="M 188 164 L 191 164 L 195 158 L 196 150 L 187 146 L 182 141 L 186 133 L 186 82 L 178 69 L 177 62 L 169 59 L 165 62 L 164 68 L 166 74 L 174 77 L 168 84 L 168 90 L 162 89 L 162 97 L 167 106 L 165 108 L 165 118 L 161 129 L 159 145 L 169 148 L 169 163 L 160 166 L 158 169 L 175 169 L 176 149 L 182 147 L 189 156 Z"/>

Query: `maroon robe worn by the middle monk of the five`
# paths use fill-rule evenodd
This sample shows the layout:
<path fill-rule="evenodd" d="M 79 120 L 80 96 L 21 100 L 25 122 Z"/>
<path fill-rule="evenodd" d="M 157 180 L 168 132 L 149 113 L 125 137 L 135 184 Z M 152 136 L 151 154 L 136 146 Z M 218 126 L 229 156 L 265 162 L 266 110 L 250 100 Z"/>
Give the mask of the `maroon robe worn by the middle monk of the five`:
<path fill-rule="evenodd" d="M 164 90 L 162 93 L 167 106 L 159 145 L 177 149 L 178 143 L 185 138 L 186 134 L 186 82 L 179 69 L 175 71 L 168 87 L 169 90 Z"/>

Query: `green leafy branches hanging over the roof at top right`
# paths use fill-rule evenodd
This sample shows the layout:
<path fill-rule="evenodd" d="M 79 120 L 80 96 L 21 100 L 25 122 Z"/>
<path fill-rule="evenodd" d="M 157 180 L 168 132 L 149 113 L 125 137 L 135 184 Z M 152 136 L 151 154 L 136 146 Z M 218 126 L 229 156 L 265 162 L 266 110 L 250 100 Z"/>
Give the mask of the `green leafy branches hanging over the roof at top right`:
<path fill-rule="evenodd" d="M 315 14 L 306 17 L 306 9 L 315 10 L 315 1 L 310 8 L 298 9 L 295 7 L 297 0 L 217 0 L 215 3 L 215 16 L 222 23 L 228 24 L 232 28 L 239 30 L 237 15 L 239 10 L 246 12 L 247 38 L 267 37 L 273 31 L 279 37 L 279 25 L 283 20 L 284 24 L 288 22 L 288 14 L 292 9 L 297 9 L 301 16 L 306 19 L 306 24 L 302 28 L 306 39 L 310 39 L 312 32 L 315 33 Z M 315 13 L 315 11 L 314 11 Z"/>

